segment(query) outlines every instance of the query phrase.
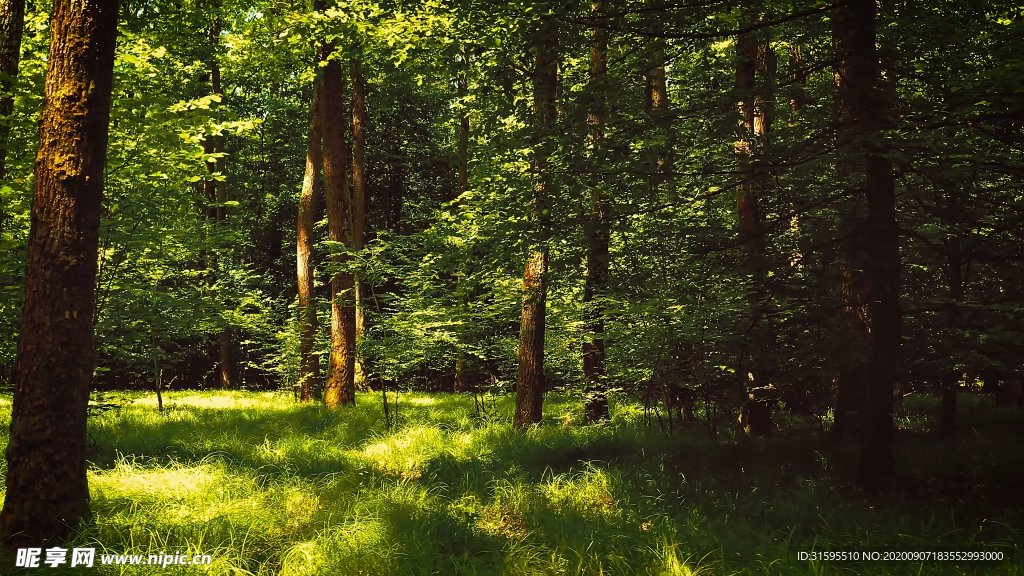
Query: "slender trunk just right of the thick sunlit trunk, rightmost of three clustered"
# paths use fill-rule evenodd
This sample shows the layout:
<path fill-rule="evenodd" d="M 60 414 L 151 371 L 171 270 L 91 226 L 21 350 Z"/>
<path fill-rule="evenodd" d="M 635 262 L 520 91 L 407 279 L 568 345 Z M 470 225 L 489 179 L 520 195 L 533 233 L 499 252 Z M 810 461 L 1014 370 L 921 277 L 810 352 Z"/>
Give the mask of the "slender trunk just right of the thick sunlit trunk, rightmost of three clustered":
<path fill-rule="evenodd" d="M 367 209 L 367 175 L 366 175 L 366 125 L 367 125 L 367 102 L 366 85 L 362 81 L 362 65 L 358 59 L 350 63 L 352 73 L 352 250 L 359 251 L 364 243 L 364 227 L 366 224 Z M 358 343 L 362 341 L 362 336 L 367 330 L 367 316 L 364 311 L 365 287 L 359 275 L 353 278 L 355 284 L 355 341 L 356 352 Z M 359 354 L 355 356 L 355 386 L 362 388 L 366 386 L 366 370 L 364 359 Z"/>

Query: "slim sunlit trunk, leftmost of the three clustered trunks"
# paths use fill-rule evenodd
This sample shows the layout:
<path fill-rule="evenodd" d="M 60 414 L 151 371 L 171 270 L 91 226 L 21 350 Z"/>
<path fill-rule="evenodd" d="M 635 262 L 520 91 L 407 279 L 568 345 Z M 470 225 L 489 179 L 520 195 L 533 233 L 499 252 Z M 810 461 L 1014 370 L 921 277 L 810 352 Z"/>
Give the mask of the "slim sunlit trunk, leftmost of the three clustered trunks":
<path fill-rule="evenodd" d="M 298 240 L 296 242 L 299 281 L 299 386 L 302 401 L 321 394 L 319 360 L 313 354 L 316 339 L 316 306 L 313 298 L 312 252 L 315 243 L 313 223 L 316 221 L 316 189 L 319 186 L 322 157 L 319 100 L 321 83 L 313 84 L 313 99 L 309 107 L 309 132 L 306 140 L 306 172 L 299 196 Z"/>

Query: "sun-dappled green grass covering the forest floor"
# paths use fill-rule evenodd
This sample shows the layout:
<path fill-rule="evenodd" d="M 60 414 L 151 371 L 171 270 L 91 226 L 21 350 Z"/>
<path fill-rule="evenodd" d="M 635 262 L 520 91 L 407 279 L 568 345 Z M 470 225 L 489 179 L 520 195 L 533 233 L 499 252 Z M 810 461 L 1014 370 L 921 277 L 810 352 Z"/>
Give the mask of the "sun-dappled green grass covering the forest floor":
<path fill-rule="evenodd" d="M 187 550 L 213 565 L 74 574 L 1024 574 L 1020 557 L 797 557 L 1021 548 L 1024 412 L 979 397 L 963 399 L 955 442 L 930 431 L 933 399 L 903 403 L 901 485 L 887 496 L 850 486 L 855 446 L 785 429 L 785 416 L 775 439 L 714 442 L 701 426 L 646 429 L 627 403 L 612 422 L 584 426 L 580 402 L 560 395 L 527 431 L 443 394 L 401 395 L 391 433 L 379 395 L 338 411 L 276 393 L 170 393 L 162 413 L 153 395 L 98 401 L 119 407 L 90 416 L 94 523 L 68 547 L 95 546 L 97 565 L 103 550 Z M 499 398 L 496 413 L 512 403 Z M 4 397 L 0 446 L 9 419 Z M 7 574 L 12 559 L 0 562 Z"/>

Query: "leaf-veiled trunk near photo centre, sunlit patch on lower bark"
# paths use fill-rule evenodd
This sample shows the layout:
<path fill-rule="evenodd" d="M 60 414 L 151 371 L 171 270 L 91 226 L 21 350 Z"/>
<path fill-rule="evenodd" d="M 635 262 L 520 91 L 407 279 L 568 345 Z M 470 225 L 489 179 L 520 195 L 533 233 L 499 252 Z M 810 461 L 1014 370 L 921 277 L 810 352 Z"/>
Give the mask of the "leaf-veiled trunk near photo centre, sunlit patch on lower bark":
<path fill-rule="evenodd" d="M 544 333 L 547 314 L 548 275 L 548 198 L 554 194 L 547 173 L 552 154 L 551 134 L 558 111 L 555 94 L 558 89 L 558 24 L 553 17 L 541 16 L 532 31 L 534 40 L 534 115 L 537 150 L 534 168 L 534 221 L 539 228 L 537 240 L 523 272 L 522 324 L 519 329 L 519 375 L 516 379 L 516 410 L 512 425 L 521 427 L 543 418 Z"/>

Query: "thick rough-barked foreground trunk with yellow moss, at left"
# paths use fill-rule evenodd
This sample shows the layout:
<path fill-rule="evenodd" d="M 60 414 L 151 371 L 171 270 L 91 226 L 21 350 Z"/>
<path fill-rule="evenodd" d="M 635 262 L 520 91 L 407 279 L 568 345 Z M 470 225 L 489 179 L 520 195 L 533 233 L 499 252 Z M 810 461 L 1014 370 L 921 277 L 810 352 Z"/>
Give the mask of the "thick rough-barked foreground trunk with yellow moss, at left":
<path fill-rule="evenodd" d="M 89 517 L 86 410 L 117 0 L 57 0 L 39 121 L 5 537 L 52 542 Z"/>

